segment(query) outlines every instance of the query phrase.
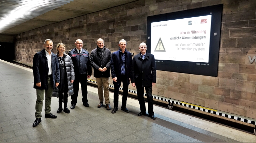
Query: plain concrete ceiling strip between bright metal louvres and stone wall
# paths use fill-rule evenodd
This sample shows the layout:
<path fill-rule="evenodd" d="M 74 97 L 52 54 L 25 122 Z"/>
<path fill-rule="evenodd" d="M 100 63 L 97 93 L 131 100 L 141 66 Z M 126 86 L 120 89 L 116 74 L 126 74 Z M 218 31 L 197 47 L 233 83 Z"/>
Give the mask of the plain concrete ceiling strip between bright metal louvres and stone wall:
<path fill-rule="evenodd" d="M 29 0 L 8 0 L 9 4 L 15 4 L 19 5 L 17 1 L 29 1 Z M 66 2 L 66 0 L 46 0 L 46 1 L 61 1 Z M 107 9 L 110 7 L 130 3 L 137 0 L 69 0 L 70 3 L 66 3 L 64 5 L 61 5 L 60 7 L 57 7 L 55 9 L 52 9 L 40 16 L 36 16 L 30 20 L 27 20 L 23 23 L 14 25 L 13 27 L 10 27 L 3 32 L 0 33 L 0 35 L 16 35 L 23 32 L 26 32 L 28 30 L 32 30 L 35 28 L 39 28 L 42 26 L 46 26 L 52 23 L 60 22 L 63 20 L 75 18 L 78 16 L 86 15 L 89 13 L 101 11 L 103 9 Z M 2 16 L 2 9 L 3 3 L 6 2 L 6 0 L 0 0 L 1 6 L 1 15 Z M 12 6 L 11 6 L 12 7 Z M 12 7 L 15 10 L 15 7 Z M 10 9 L 10 8 L 9 8 Z M 33 11 L 30 11 L 33 13 Z M 1 21 L 0 21 L 1 22 Z"/>

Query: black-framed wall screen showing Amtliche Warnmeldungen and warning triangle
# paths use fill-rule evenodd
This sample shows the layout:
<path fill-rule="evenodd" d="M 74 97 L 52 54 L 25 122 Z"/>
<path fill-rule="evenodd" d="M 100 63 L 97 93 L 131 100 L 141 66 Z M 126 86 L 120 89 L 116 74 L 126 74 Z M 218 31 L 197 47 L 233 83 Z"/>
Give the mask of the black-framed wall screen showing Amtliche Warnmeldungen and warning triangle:
<path fill-rule="evenodd" d="M 156 69 L 217 76 L 223 5 L 147 17 Z"/>

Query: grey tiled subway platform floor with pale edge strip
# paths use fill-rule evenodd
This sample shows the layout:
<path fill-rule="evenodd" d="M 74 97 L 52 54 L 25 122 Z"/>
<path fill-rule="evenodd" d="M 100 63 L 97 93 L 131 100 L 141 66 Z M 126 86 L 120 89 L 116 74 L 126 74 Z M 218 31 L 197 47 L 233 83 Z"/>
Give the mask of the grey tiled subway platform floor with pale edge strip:
<path fill-rule="evenodd" d="M 256 142 L 256 136 L 219 124 L 154 106 L 156 120 L 137 116 L 139 103 L 127 99 L 130 113 L 114 107 L 97 108 L 97 88 L 88 86 L 88 103 L 82 105 L 81 89 L 78 102 L 70 114 L 57 114 L 58 98 L 52 97 L 51 113 L 57 119 L 45 118 L 32 127 L 35 120 L 36 90 L 32 69 L 0 61 L 0 142 Z M 43 105 L 44 106 L 44 105 Z M 147 104 L 146 104 L 147 108 Z"/>

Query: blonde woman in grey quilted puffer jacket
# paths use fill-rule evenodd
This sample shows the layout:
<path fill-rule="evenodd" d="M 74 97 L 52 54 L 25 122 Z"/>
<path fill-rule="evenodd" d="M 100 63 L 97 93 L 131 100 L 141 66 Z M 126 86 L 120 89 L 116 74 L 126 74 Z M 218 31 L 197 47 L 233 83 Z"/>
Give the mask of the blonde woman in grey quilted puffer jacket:
<path fill-rule="evenodd" d="M 69 97 L 74 94 L 73 91 L 73 82 L 75 80 L 75 72 L 72 59 L 69 55 L 65 54 L 65 45 L 63 43 L 57 44 L 57 56 L 60 67 L 60 84 L 59 89 L 59 108 L 57 113 L 60 113 L 62 110 L 65 113 L 70 113 L 70 110 L 67 108 L 67 93 Z M 64 109 L 62 108 L 62 98 L 64 103 Z"/>

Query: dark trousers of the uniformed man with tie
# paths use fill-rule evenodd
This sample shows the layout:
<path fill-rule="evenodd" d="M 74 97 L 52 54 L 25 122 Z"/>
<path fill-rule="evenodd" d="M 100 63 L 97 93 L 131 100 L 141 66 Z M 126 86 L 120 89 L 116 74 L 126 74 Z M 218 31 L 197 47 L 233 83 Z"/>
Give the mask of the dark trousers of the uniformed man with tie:
<path fill-rule="evenodd" d="M 77 103 L 77 96 L 78 96 L 78 91 L 79 91 L 79 81 L 81 83 L 81 90 L 82 90 L 82 102 L 87 103 L 87 74 L 75 74 L 75 80 L 73 82 L 73 89 L 74 89 L 74 94 L 71 96 L 71 104 L 76 105 Z"/>

